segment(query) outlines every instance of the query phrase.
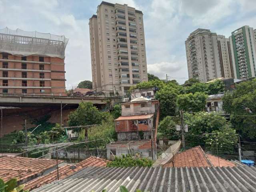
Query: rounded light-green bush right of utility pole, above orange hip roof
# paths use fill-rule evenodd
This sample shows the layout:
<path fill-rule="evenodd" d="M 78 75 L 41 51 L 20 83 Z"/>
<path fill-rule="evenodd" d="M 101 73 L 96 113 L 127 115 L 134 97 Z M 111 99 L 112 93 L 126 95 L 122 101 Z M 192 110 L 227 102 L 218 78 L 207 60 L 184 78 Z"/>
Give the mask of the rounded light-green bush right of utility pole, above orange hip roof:
<path fill-rule="evenodd" d="M 230 128 L 229 126 L 224 126 L 220 130 L 212 131 L 212 135 L 206 135 L 206 149 L 213 151 L 217 154 L 218 151 L 232 152 L 234 147 L 238 142 L 238 135 L 236 130 Z"/>

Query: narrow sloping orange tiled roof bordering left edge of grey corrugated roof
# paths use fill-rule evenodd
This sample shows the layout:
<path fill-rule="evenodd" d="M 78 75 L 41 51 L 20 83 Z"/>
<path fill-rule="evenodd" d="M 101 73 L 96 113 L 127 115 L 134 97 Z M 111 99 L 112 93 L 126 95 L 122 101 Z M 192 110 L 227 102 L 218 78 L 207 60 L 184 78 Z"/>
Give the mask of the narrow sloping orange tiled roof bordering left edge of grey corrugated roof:
<path fill-rule="evenodd" d="M 110 161 L 102 159 L 102 158 L 89 157 L 89 158 L 79 162 L 75 166 L 65 165 L 65 166 L 59 168 L 59 179 L 64 179 L 67 176 L 70 176 L 70 175 L 74 174 L 75 172 L 77 172 L 85 167 L 88 167 L 88 166 L 97 166 L 97 167 L 106 166 L 108 162 L 110 162 Z M 38 188 L 40 186 L 49 184 L 55 180 L 58 180 L 57 170 L 54 170 L 53 172 L 50 172 L 49 174 L 40 176 L 30 182 L 27 182 L 25 184 L 24 189 L 32 190 L 34 188 Z"/>

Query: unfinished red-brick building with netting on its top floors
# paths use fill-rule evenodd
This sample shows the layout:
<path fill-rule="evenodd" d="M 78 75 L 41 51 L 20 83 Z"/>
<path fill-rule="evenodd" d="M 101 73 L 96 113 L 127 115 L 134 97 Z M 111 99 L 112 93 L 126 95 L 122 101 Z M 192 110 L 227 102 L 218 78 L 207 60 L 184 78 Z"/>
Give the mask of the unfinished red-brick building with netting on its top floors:
<path fill-rule="evenodd" d="M 0 30 L 0 93 L 65 95 L 64 36 Z"/>

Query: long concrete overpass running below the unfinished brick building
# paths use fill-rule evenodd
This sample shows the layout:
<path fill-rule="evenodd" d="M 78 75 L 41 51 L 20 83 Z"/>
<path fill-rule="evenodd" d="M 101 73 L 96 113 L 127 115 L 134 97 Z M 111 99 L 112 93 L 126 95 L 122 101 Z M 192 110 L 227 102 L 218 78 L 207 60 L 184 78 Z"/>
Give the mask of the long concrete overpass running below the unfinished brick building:
<path fill-rule="evenodd" d="M 59 108 L 60 103 L 67 104 L 69 108 L 77 108 L 80 102 L 92 102 L 98 108 L 106 105 L 106 97 L 68 97 L 68 96 L 45 96 L 27 94 L 0 94 L 0 106 L 13 107 L 38 107 Z"/>

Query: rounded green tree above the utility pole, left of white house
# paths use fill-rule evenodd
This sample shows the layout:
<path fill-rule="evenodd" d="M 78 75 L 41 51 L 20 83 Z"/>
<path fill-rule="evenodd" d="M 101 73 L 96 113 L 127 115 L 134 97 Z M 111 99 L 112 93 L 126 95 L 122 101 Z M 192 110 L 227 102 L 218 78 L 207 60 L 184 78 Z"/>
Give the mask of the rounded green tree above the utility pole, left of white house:
<path fill-rule="evenodd" d="M 204 110 L 206 99 L 207 95 L 203 92 L 180 94 L 177 98 L 177 106 L 184 111 L 199 112 Z"/>

